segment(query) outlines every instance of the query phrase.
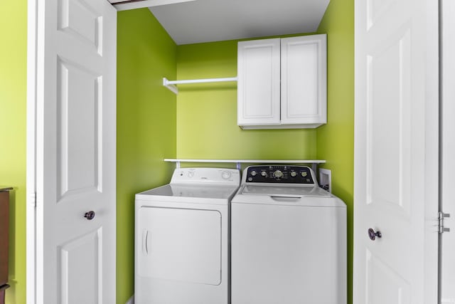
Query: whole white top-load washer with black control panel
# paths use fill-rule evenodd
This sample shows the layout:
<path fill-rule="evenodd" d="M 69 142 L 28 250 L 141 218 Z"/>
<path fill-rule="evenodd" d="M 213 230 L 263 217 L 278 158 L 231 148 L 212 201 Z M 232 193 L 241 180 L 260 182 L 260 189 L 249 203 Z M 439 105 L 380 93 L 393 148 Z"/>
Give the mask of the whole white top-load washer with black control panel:
<path fill-rule="evenodd" d="M 232 304 L 346 304 L 346 204 L 303 166 L 252 166 L 231 202 Z"/>

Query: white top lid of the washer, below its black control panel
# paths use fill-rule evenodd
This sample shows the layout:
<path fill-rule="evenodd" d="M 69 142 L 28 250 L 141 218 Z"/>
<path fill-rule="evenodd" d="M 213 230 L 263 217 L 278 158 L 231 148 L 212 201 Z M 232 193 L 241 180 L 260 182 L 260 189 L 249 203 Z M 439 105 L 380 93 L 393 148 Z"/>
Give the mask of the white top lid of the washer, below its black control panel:
<path fill-rule="evenodd" d="M 292 187 L 292 186 L 258 186 L 246 184 L 240 190 L 241 194 L 250 195 L 270 195 L 270 196 L 285 196 L 285 197 L 304 197 L 318 196 L 331 197 L 332 195 L 320 187 Z"/>

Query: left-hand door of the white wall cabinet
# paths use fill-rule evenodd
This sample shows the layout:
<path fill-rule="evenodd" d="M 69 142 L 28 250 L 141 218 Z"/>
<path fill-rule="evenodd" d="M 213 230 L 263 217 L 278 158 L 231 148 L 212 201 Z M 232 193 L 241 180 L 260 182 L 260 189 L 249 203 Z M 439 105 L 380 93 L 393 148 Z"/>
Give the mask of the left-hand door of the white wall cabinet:
<path fill-rule="evenodd" d="M 279 41 L 238 43 L 237 125 L 279 124 Z"/>

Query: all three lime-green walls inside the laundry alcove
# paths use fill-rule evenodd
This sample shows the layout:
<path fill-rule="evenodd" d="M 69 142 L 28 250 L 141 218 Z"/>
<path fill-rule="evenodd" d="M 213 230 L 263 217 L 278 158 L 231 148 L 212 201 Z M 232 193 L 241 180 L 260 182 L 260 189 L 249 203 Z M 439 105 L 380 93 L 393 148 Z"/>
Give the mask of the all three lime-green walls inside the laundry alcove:
<path fill-rule="evenodd" d="M 134 293 L 134 194 L 169 182 L 175 164 L 165 158 L 327 159 L 333 193 L 348 205 L 351 282 L 353 1 L 349 2 L 332 0 L 316 32 L 328 34 L 328 124 L 306 130 L 240 129 L 236 83 L 182 85 L 175 95 L 162 85 L 163 77 L 237 75 L 237 40 L 176 45 L 149 9 L 119 11 L 117 303 L 126 303 Z M 349 283 L 348 303 L 351 288 Z"/>

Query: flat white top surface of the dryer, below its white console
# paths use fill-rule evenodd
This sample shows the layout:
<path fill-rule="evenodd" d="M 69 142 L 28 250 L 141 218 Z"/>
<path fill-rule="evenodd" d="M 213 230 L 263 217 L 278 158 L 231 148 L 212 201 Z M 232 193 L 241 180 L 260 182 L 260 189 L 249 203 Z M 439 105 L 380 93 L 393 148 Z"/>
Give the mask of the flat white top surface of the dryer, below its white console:
<path fill-rule="evenodd" d="M 213 184 L 166 184 L 162 187 L 136 194 L 136 198 L 147 196 L 179 196 L 201 199 L 230 199 L 237 191 L 237 186 Z"/>

